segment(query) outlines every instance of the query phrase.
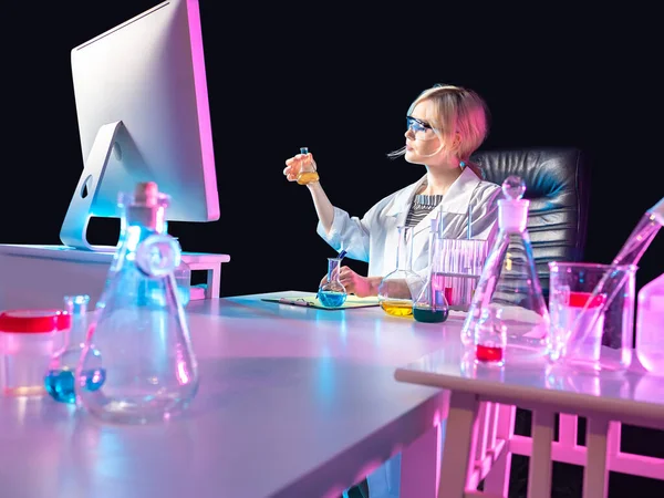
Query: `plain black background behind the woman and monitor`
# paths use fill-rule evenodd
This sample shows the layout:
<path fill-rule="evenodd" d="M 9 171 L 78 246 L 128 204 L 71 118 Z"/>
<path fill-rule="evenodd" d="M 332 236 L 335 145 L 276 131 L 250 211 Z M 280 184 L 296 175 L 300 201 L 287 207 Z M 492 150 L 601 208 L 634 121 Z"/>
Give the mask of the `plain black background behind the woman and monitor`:
<path fill-rule="evenodd" d="M 0 242 L 60 243 L 83 167 L 70 51 L 157 2 L 7 3 Z M 314 290 L 333 250 L 315 235 L 307 188 L 282 176 L 286 158 L 308 146 L 330 199 L 364 214 L 424 173 L 386 154 L 404 143 L 409 103 L 434 83 L 486 98 L 492 127 L 483 148 L 585 151 L 585 260 L 610 262 L 664 195 L 656 15 L 625 4 L 357 3 L 200 2 L 221 217 L 174 222 L 170 232 L 187 251 L 230 255 L 221 294 Z M 93 242 L 116 237 L 116 220 L 92 225 Z M 663 249 L 660 235 L 637 288 L 664 270 Z"/>

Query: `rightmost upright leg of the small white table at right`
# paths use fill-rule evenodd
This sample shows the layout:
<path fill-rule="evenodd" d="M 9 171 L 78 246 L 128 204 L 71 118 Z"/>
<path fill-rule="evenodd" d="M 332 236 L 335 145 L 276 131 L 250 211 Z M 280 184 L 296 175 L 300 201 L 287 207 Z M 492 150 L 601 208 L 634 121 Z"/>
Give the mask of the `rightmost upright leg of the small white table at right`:
<path fill-rule="evenodd" d="M 585 433 L 585 468 L 583 469 L 583 498 L 606 498 L 609 468 L 606 465 L 606 435 L 609 421 L 589 417 Z"/>

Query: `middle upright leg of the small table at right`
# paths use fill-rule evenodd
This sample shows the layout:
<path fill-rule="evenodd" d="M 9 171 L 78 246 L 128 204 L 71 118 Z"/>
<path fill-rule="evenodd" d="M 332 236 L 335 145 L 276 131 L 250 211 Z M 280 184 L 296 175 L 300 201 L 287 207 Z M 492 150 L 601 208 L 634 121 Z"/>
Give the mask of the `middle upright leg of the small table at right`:
<path fill-rule="evenodd" d="M 532 457 L 528 469 L 528 497 L 551 496 L 551 444 L 556 414 L 532 411 Z"/>

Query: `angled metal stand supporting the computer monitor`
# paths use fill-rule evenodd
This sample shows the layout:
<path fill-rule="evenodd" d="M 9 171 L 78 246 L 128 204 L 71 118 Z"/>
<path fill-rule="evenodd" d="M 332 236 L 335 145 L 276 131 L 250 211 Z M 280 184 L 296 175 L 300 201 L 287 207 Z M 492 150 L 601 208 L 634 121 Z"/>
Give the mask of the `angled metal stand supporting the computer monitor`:
<path fill-rule="evenodd" d="M 97 132 L 60 229 L 60 240 L 65 246 L 101 252 L 115 249 L 111 246 L 91 245 L 87 241 L 87 225 L 92 216 L 92 205 L 104 179 L 111 154 L 122 155 L 125 149 L 117 144 L 118 141 L 126 142 L 123 137 L 128 138 L 128 134 L 121 121 L 105 124 Z M 131 141 L 131 138 L 128 139 Z M 128 151 L 129 147 L 126 149 Z"/>

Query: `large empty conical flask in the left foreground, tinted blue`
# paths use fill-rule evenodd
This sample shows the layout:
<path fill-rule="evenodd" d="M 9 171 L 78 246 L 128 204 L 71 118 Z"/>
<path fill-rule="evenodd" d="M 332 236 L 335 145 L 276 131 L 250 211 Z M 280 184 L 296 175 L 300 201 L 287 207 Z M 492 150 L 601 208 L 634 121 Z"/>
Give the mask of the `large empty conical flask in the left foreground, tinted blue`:
<path fill-rule="evenodd" d="M 198 390 L 174 276 L 180 248 L 166 234 L 168 200 L 153 183 L 120 196 L 122 237 L 76 369 L 81 406 L 104 421 L 167 419 Z M 101 386 L 97 376 L 105 377 Z"/>

